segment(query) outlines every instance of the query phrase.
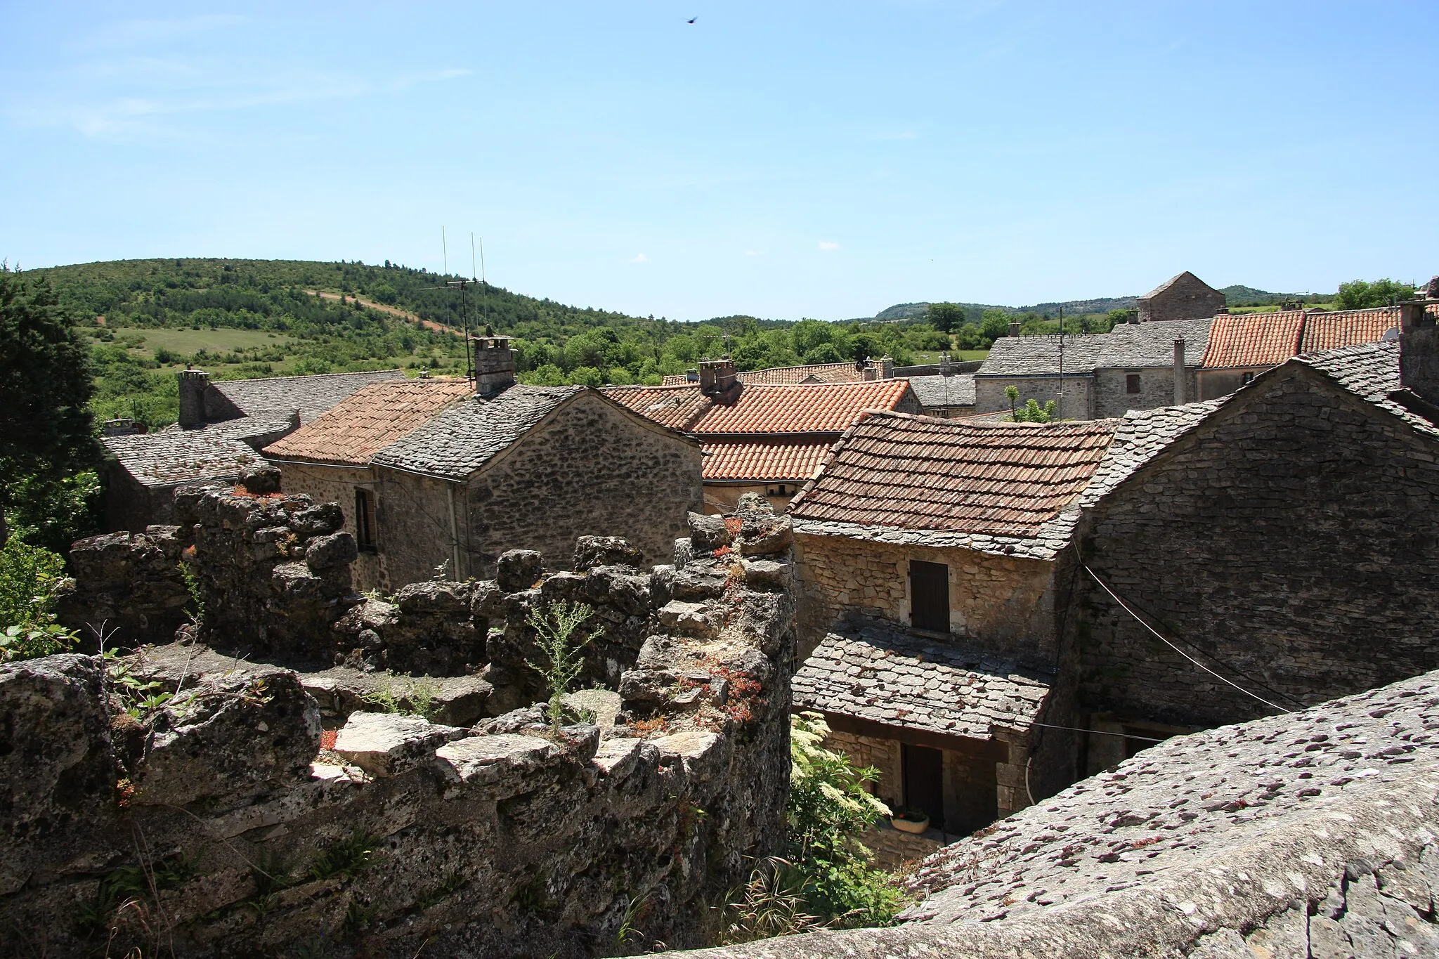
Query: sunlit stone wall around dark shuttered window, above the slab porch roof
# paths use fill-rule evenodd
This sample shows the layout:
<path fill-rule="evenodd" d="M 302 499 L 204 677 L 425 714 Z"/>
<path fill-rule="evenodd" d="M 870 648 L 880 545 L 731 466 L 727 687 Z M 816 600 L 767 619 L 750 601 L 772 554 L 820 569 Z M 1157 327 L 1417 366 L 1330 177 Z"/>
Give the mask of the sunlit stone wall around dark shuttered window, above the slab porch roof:
<path fill-rule="evenodd" d="M 807 533 L 799 536 L 797 556 L 806 644 L 817 643 L 846 614 L 908 628 L 909 561 L 918 559 L 950 568 L 950 633 L 957 640 L 1053 666 L 1053 562 Z"/>

